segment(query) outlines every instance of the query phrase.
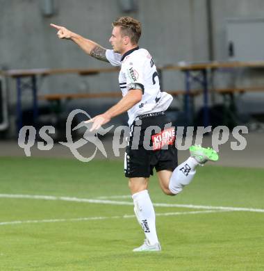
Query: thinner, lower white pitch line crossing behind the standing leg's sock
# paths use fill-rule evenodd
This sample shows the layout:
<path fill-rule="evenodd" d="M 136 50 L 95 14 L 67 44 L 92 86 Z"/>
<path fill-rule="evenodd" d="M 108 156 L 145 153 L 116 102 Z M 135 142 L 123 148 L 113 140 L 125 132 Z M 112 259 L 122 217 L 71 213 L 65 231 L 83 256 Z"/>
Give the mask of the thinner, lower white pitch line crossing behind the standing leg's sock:
<path fill-rule="evenodd" d="M 175 212 L 175 213 L 156 213 L 157 216 L 169 216 L 169 215 L 195 215 L 199 213 L 219 213 L 225 211 L 191 211 L 191 212 Z M 80 217 L 80 218 L 60 218 L 53 220 L 18 220 L 10 222 L 0 222 L 0 226 L 12 225 L 12 224 L 33 224 L 33 223 L 54 223 L 54 222 L 78 222 L 78 221 L 89 221 L 89 220 L 108 220 L 108 219 L 119 219 L 119 218 L 133 218 L 135 215 L 115 215 L 110 217 Z"/>

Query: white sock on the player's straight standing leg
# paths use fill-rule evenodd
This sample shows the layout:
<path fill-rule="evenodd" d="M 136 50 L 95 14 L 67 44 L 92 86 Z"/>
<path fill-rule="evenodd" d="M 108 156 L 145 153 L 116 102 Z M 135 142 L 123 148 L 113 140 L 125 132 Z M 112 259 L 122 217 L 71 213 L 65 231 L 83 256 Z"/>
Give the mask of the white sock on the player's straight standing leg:
<path fill-rule="evenodd" d="M 138 218 L 149 245 L 158 243 L 158 236 L 156 233 L 155 211 L 149 192 L 143 190 L 132 195 L 134 202 L 135 216 Z"/>

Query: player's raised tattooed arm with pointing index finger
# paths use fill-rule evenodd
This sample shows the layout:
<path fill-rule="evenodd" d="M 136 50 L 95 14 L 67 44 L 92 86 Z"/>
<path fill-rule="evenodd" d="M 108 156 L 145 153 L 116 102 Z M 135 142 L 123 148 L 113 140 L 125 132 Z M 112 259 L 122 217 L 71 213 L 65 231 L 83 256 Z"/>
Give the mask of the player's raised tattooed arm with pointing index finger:
<path fill-rule="evenodd" d="M 81 47 L 81 49 L 85 51 L 85 53 L 89 54 L 90 56 L 97 58 L 99 60 L 109 62 L 108 59 L 106 58 L 106 49 L 104 47 L 101 47 L 101 45 L 97 44 L 96 42 L 93 42 L 92 40 L 83 38 L 83 36 L 78 35 L 72 31 L 69 31 L 67 28 L 63 26 L 57 26 L 56 24 L 50 25 L 58 30 L 57 32 L 58 38 L 72 40 L 76 44 L 78 44 L 79 47 Z"/>

